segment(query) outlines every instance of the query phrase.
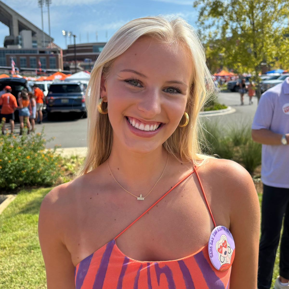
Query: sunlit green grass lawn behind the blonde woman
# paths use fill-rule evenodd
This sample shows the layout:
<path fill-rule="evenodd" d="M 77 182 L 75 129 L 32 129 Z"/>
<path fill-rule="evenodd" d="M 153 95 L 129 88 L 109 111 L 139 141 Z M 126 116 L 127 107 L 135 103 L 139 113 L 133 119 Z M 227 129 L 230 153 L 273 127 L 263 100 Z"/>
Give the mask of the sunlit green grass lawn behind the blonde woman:
<path fill-rule="evenodd" d="M 22 190 L 0 215 L 0 289 L 46 288 L 37 223 L 41 201 L 50 190 Z M 262 195 L 258 197 L 261 204 Z M 279 248 L 271 288 L 278 272 Z"/>

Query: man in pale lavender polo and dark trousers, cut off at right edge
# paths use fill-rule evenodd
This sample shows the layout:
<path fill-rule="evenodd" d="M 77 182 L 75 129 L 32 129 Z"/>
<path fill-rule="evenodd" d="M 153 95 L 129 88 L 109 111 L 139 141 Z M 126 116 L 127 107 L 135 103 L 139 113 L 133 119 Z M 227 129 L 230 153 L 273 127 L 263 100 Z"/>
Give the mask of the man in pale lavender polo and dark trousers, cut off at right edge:
<path fill-rule="evenodd" d="M 271 287 L 284 218 L 280 276 L 274 288 L 289 289 L 289 77 L 262 95 L 252 124 L 252 138 L 262 143 L 262 224 L 258 289 Z"/>

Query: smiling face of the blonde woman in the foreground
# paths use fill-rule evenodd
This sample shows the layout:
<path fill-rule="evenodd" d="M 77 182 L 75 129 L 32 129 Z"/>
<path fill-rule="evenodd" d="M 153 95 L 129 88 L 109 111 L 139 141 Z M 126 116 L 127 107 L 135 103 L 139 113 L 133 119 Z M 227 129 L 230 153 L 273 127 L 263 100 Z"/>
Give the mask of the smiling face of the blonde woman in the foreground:
<path fill-rule="evenodd" d="M 190 93 L 192 60 L 181 45 L 141 37 L 114 60 L 101 88 L 113 147 L 149 153 L 177 128 Z M 103 81 L 104 82 L 104 81 Z"/>

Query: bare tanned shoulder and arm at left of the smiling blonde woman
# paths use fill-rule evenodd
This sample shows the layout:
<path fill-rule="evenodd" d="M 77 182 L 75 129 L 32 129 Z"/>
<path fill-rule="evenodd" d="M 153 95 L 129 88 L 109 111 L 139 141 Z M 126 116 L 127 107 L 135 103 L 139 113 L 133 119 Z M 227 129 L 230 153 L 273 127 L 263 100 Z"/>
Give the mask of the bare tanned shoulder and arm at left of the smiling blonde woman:
<path fill-rule="evenodd" d="M 38 236 L 49 289 L 75 288 L 70 241 L 77 231 L 76 220 L 89 179 L 85 175 L 57 186 L 41 203 Z"/>

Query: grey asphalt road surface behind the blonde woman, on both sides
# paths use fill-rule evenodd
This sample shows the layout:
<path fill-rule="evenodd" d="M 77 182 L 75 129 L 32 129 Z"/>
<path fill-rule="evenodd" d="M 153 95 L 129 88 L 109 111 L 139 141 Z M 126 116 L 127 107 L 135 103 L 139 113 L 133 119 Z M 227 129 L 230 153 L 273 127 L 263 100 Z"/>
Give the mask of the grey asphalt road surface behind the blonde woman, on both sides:
<path fill-rule="evenodd" d="M 253 105 L 249 105 L 249 97 L 244 95 L 244 105 L 240 105 L 240 94 L 238 92 L 221 92 L 218 101 L 236 109 L 233 114 L 221 116 L 202 117 L 205 121 L 220 122 L 224 126 L 252 123 L 257 99 L 253 98 Z M 8 125 L 6 127 L 9 127 Z M 19 123 L 15 124 L 16 132 L 20 131 Z M 47 143 L 47 148 L 61 144 L 62 147 L 86 147 L 87 118 L 75 119 L 73 115 L 62 113 L 54 121 L 47 121 L 46 115 L 43 117 L 42 124 L 36 124 L 36 132 L 44 127 L 46 139 L 55 137 Z"/>

